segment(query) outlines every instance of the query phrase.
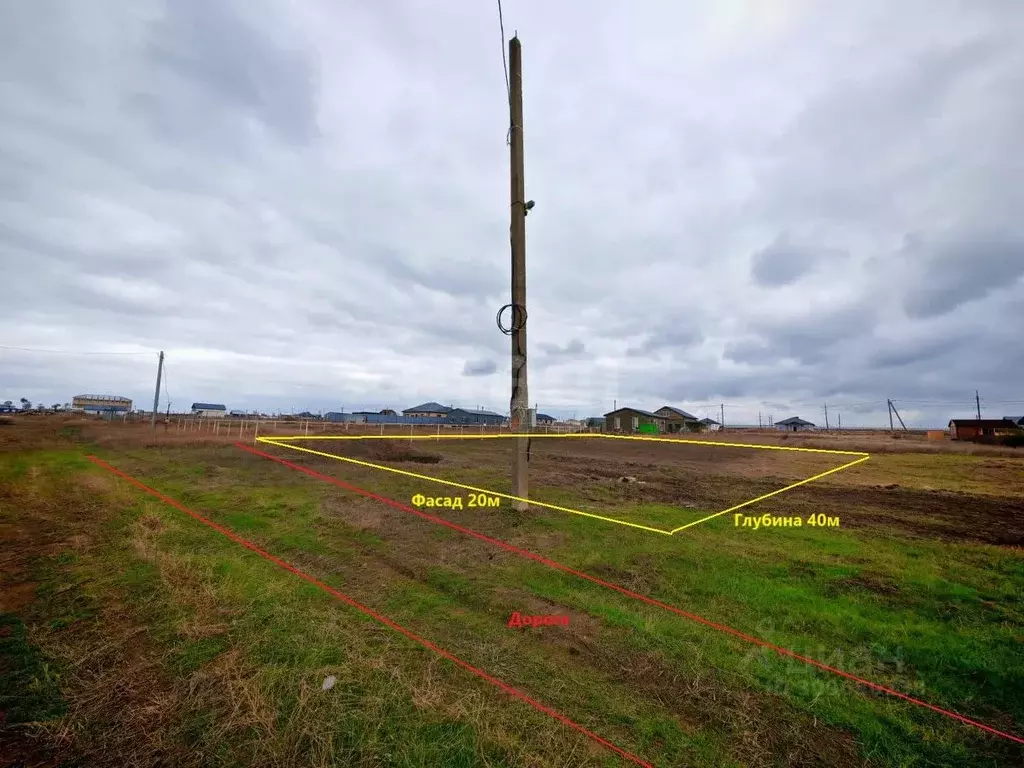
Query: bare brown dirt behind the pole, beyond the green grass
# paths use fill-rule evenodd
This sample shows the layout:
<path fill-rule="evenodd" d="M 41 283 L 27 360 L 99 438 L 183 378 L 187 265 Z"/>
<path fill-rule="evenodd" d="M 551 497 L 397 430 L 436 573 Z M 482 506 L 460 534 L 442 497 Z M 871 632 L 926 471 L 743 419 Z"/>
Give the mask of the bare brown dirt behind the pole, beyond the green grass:
<path fill-rule="evenodd" d="M 466 477 L 480 467 L 508 466 L 511 440 L 309 440 L 325 453 Z M 853 450 L 845 444 L 838 450 Z M 328 472 L 339 467 L 308 455 Z M 603 438 L 541 438 L 531 447 L 535 487 L 571 492 L 582 509 L 615 504 L 664 504 L 726 509 L 856 457 Z M 901 468 L 906 467 L 906 472 Z M 624 482 L 622 478 L 636 482 Z M 896 481 L 890 481 L 890 480 Z M 470 482 L 469 479 L 465 480 Z M 497 487 L 495 489 L 501 490 Z M 854 528 L 1000 546 L 1024 546 L 1024 455 L 1019 458 L 934 452 L 880 454 L 867 462 L 787 490 L 753 514 L 841 515 Z M 731 524 L 731 523 L 730 523 Z"/>

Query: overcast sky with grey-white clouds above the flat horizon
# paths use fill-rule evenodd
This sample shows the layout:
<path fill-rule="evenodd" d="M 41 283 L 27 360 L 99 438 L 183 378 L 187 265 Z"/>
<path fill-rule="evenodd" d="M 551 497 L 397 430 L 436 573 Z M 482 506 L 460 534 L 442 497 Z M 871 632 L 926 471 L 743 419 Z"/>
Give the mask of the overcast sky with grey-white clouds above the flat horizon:
<path fill-rule="evenodd" d="M 542 411 L 1024 413 L 1024 3 L 503 5 Z M 0 400 L 507 412 L 507 126 L 488 2 L 4 2 L 0 345 L 65 353 Z"/>

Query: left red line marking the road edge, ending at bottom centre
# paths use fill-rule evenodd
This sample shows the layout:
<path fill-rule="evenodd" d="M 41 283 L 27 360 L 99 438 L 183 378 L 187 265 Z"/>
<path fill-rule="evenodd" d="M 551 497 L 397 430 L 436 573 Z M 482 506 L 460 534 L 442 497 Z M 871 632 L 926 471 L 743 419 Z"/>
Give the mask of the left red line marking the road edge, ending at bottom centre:
<path fill-rule="evenodd" d="M 135 479 L 131 475 L 126 474 L 126 473 L 122 472 L 120 469 L 111 466 L 110 464 L 108 464 L 106 462 L 104 462 L 102 459 L 97 459 L 95 456 L 90 456 L 90 457 L 88 457 L 88 459 L 92 463 L 94 463 L 94 464 L 102 467 L 105 470 L 109 470 L 110 472 L 113 472 L 114 474 L 118 475 L 122 479 L 127 480 L 132 485 L 135 485 L 136 487 L 144 490 L 145 493 L 150 494 L 151 496 L 155 496 L 156 498 L 160 499 L 160 501 L 164 502 L 165 504 L 171 505 L 175 509 L 180 510 L 181 512 L 184 512 L 186 515 L 188 515 L 190 517 L 194 517 L 195 519 L 199 520 L 204 525 L 207 525 L 207 526 L 213 528 L 214 530 L 216 530 L 216 531 L 218 531 L 220 534 L 223 534 L 224 536 L 226 536 L 228 539 L 230 539 L 236 544 L 241 544 L 246 549 L 255 552 L 257 555 L 259 555 L 260 557 L 262 557 L 264 560 L 269 560 L 274 565 L 279 565 L 280 567 L 284 568 L 285 570 L 288 570 L 288 571 L 294 573 L 295 575 L 299 577 L 300 579 L 303 579 L 303 580 L 309 582 L 309 584 L 312 584 L 312 585 L 314 585 L 316 587 L 319 587 L 322 590 L 324 590 L 328 594 L 332 595 L 333 597 L 336 597 L 337 599 L 341 600 L 343 603 L 346 603 L 347 605 L 352 606 L 356 610 L 358 610 L 358 611 L 360 611 L 362 613 L 366 613 L 368 616 L 370 616 L 372 618 L 375 618 L 376 621 L 380 622 L 384 626 L 390 627 L 395 632 L 401 633 L 402 635 L 404 635 L 406 637 L 408 637 L 410 640 L 414 640 L 415 642 L 419 643 L 420 645 L 424 646 L 425 648 L 429 648 L 430 650 L 434 651 L 434 653 L 437 653 L 438 655 L 443 656 L 444 658 L 449 659 L 450 662 L 453 662 L 453 663 L 457 664 L 459 667 L 462 667 L 464 670 L 467 670 L 468 672 L 473 673 L 477 677 L 480 677 L 480 678 L 486 680 L 488 683 L 490 683 L 492 685 L 494 685 L 497 688 L 500 688 L 501 690 L 505 691 L 509 695 L 514 696 L 515 698 L 518 698 L 518 699 L 520 699 L 522 701 L 525 701 L 526 703 L 528 703 L 530 707 L 532 707 L 538 712 L 543 712 L 545 715 L 553 717 L 555 720 L 559 721 L 560 723 L 563 723 L 564 725 L 567 725 L 570 728 L 573 728 L 573 729 L 580 731 L 581 733 L 583 733 L 588 738 L 591 738 L 594 741 L 596 741 L 597 743 L 601 744 L 602 746 L 605 746 L 608 750 L 611 750 L 612 752 L 616 753 L 620 757 L 622 757 L 622 758 L 624 758 L 624 759 L 626 759 L 626 760 L 628 760 L 631 763 L 634 763 L 636 765 L 644 766 L 644 768 L 654 768 L 653 765 L 651 765 L 650 763 L 642 760 L 641 758 L 637 757 L 633 753 L 627 752 L 626 750 L 622 749 L 621 746 L 616 746 L 611 741 L 608 741 L 606 738 L 602 738 L 601 736 L 597 735 L 593 731 L 588 730 L 584 726 L 580 725 L 575 721 L 569 720 L 567 717 L 565 717 L 561 713 L 556 712 L 555 710 L 552 710 L 550 707 L 546 707 L 545 705 L 541 703 L 540 701 L 537 701 L 534 698 L 530 698 L 525 693 L 523 693 L 521 690 L 518 690 L 517 688 L 513 688 L 508 683 L 503 682 L 502 680 L 499 680 L 498 678 L 494 677 L 493 675 L 488 675 L 486 672 L 484 672 L 483 670 L 481 670 L 481 669 L 479 669 L 477 667 L 473 667 L 471 664 L 469 664 L 468 662 L 464 662 L 463 659 L 459 658 L 454 653 L 450 653 L 449 651 L 444 650 L 440 646 L 434 645 L 429 640 L 426 640 L 426 639 L 420 637 L 419 635 L 411 632 L 410 630 L 407 630 L 404 627 L 402 627 L 397 622 L 393 622 L 390 618 L 388 618 L 387 616 L 385 616 L 385 615 L 383 615 L 381 613 L 378 613 L 373 608 L 368 608 L 366 605 L 362 605 L 361 603 L 356 602 L 355 600 L 353 600 L 348 595 L 346 595 L 346 594 L 344 594 L 342 592 L 339 592 L 338 590 L 334 589 L 333 587 L 330 587 L 330 586 L 324 584 L 323 582 L 316 580 L 315 578 L 309 575 L 304 570 L 300 570 L 299 568 L 295 567 L 294 565 L 292 565 L 292 564 L 290 564 L 288 562 L 285 562 L 280 557 L 271 555 L 269 552 L 266 552 L 265 550 L 260 549 L 259 547 L 257 547 L 252 542 L 247 541 L 246 539 L 243 539 L 242 537 L 240 537 L 238 534 L 236 534 L 234 531 L 232 531 L 230 528 L 226 528 L 223 525 L 218 525 L 213 520 L 210 520 L 209 518 L 204 517 L 203 515 L 201 515 L 199 512 L 196 512 L 196 511 L 194 511 L 191 509 L 188 509 L 188 507 L 184 506 L 180 502 L 177 502 L 174 499 L 171 499 L 169 496 L 165 496 L 164 494 L 161 494 L 159 490 L 155 490 L 154 488 L 151 488 L 148 485 L 143 484 L 142 482 L 140 482 L 139 480 Z"/>

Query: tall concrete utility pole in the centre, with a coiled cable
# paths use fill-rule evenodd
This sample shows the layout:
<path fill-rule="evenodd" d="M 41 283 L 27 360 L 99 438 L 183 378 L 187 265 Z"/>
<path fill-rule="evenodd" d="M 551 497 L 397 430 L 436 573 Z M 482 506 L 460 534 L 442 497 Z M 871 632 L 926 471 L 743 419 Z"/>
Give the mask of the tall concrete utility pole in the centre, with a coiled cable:
<path fill-rule="evenodd" d="M 529 393 L 526 386 L 526 182 L 522 141 L 522 49 L 519 38 L 509 40 L 509 159 L 512 221 L 512 408 L 510 426 L 522 434 L 529 430 Z M 517 437 L 512 463 L 512 496 L 529 494 L 529 438 Z M 516 510 L 525 502 L 512 502 Z"/>

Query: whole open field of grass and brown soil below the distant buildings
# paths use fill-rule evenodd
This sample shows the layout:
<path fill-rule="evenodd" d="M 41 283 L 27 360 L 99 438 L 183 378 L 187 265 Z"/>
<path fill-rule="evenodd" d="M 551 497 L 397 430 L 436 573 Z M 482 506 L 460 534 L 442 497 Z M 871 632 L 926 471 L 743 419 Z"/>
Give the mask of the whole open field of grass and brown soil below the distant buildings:
<path fill-rule="evenodd" d="M 88 456 L 652 765 L 1024 762 L 1020 743 L 233 438 L 146 435 L 58 419 L 0 426 L 0 765 L 628 764 Z M 509 490 L 504 440 L 299 444 Z M 258 447 L 404 505 L 468 497 Z M 678 525 L 842 462 L 536 440 L 532 495 Z M 1024 458 L 880 451 L 745 510 L 840 518 L 827 528 L 753 530 L 724 515 L 667 537 L 507 501 L 424 511 L 1024 737 Z M 514 611 L 569 623 L 512 629 Z"/>

